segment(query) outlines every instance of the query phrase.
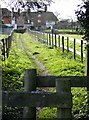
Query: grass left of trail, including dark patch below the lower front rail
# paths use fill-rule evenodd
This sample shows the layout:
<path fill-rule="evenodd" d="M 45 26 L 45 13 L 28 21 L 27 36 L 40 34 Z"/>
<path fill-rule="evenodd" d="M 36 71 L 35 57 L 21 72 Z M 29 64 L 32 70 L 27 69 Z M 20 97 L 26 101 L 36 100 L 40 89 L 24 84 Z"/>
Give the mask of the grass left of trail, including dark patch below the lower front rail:
<path fill-rule="evenodd" d="M 25 69 L 36 68 L 30 56 L 21 49 L 19 34 L 14 34 L 9 58 L 2 62 L 2 87 L 6 91 L 23 91 Z M 23 108 L 4 107 L 3 119 L 18 120 L 22 117 Z"/>

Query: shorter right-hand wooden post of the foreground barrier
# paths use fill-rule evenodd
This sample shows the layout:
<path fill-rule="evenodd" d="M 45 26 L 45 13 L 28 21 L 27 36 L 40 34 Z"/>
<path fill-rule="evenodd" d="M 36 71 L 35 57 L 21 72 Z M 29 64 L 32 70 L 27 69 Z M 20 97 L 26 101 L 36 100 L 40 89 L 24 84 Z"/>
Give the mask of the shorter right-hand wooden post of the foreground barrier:
<path fill-rule="evenodd" d="M 70 95 L 70 106 L 69 108 L 57 108 L 57 118 L 60 120 L 64 120 L 64 119 L 68 119 L 68 120 L 72 120 L 72 95 L 71 95 L 71 86 L 70 86 L 70 81 L 68 80 L 56 80 L 56 92 L 57 93 L 67 93 L 68 95 Z M 66 99 L 65 99 L 66 101 Z M 65 104 L 65 103 L 63 103 Z M 66 106 L 66 105 L 65 105 Z"/>

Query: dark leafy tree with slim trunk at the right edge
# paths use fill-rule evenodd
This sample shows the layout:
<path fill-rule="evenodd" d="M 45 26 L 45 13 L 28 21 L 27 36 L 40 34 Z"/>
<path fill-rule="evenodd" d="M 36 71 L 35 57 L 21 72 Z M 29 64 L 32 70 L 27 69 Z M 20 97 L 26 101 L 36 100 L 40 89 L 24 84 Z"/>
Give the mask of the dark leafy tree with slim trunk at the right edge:
<path fill-rule="evenodd" d="M 84 29 L 84 39 L 86 44 L 86 76 L 89 76 L 89 0 L 83 0 L 83 4 L 79 6 L 79 10 L 76 11 L 78 20 Z M 87 81 L 87 90 L 89 92 L 89 80 Z M 89 94 L 88 94 L 88 111 L 89 115 Z"/>

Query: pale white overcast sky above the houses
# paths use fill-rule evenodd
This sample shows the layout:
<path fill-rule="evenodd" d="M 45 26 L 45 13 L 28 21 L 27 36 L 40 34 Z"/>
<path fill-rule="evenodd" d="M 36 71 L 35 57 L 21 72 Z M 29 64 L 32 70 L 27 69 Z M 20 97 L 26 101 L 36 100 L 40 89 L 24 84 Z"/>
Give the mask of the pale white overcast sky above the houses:
<path fill-rule="evenodd" d="M 2 4 L 4 1 L 8 2 L 10 0 L 0 0 L 0 4 Z M 16 0 L 11 0 L 11 2 L 13 1 Z M 82 3 L 82 0 L 54 0 L 54 1 L 55 3 L 52 3 L 51 6 L 48 7 L 48 11 L 60 13 L 58 17 L 61 19 L 72 18 L 73 20 L 76 20 L 75 10 L 77 10 L 77 5 Z M 6 3 L 3 6 L 5 5 Z"/>

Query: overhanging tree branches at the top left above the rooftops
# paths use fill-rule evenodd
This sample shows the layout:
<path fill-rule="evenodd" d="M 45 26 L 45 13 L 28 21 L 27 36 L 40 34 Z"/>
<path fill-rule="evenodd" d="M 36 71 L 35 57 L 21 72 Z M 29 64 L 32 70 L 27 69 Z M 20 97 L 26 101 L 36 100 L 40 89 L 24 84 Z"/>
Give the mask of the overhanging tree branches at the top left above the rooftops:
<path fill-rule="evenodd" d="M 15 10 L 23 10 L 23 9 L 33 9 L 33 10 L 44 10 L 47 11 L 47 6 L 50 5 L 53 0 L 3 0 L 4 3 L 7 4 L 7 7 L 14 8 Z"/>

